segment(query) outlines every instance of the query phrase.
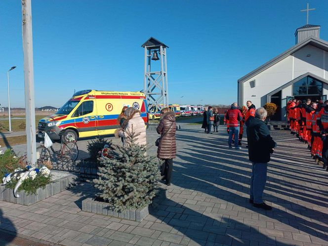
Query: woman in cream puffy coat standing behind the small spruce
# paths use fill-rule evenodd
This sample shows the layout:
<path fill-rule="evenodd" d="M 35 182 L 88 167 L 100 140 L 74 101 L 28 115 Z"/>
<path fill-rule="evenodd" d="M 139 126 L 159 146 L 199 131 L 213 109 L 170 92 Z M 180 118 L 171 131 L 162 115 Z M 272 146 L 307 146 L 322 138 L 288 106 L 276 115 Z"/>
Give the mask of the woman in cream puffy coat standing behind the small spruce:
<path fill-rule="evenodd" d="M 146 127 L 144 120 L 141 118 L 140 111 L 130 107 L 125 110 L 124 114 L 127 118 L 123 123 L 122 128 L 119 128 L 116 131 L 116 135 L 124 138 L 123 146 L 125 146 L 126 141 L 128 141 L 128 132 L 132 132 L 132 129 L 134 134 L 137 135 L 135 143 L 138 145 L 146 145 Z"/>

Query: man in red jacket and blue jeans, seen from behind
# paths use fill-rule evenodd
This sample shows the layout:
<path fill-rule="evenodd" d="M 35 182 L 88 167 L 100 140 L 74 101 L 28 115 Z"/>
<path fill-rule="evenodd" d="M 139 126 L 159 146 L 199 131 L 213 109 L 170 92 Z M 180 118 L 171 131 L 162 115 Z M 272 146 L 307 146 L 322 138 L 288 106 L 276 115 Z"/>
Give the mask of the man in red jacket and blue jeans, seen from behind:
<path fill-rule="evenodd" d="M 238 136 L 239 136 L 239 125 L 240 121 L 243 120 L 243 115 L 238 109 L 237 103 L 233 103 L 231 105 L 231 108 L 227 111 L 226 113 L 226 120 L 229 121 L 229 140 L 228 140 L 228 145 L 229 149 L 232 148 L 231 143 L 232 143 L 232 136 L 235 134 L 235 149 L 240 150 L 242 149 L 238 145 Z"/>

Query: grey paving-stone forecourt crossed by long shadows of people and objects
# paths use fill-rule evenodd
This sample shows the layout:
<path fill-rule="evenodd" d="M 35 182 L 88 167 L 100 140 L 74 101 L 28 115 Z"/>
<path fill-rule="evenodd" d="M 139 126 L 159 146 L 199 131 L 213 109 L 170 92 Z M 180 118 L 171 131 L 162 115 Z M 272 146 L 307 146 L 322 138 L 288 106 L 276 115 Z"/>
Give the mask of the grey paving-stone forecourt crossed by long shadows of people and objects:
<path fill-rule="evenodd" d="M 181 126 L 167 199 L 142 222 L 82 212 L 92 193 L 82 183 L 31 206 L 0 202 L 0 229 L 68 246 L 328 245 L 328 172 L 305 144 L 287 131 L 271 132 L 278 147 L 264 199 L 274 208 L 264 211 L 248 203 L 247 149 L 228 149 L 224 126 L 215 134 Z M 148 134 L 149 143 L 156 138 Z"/>

